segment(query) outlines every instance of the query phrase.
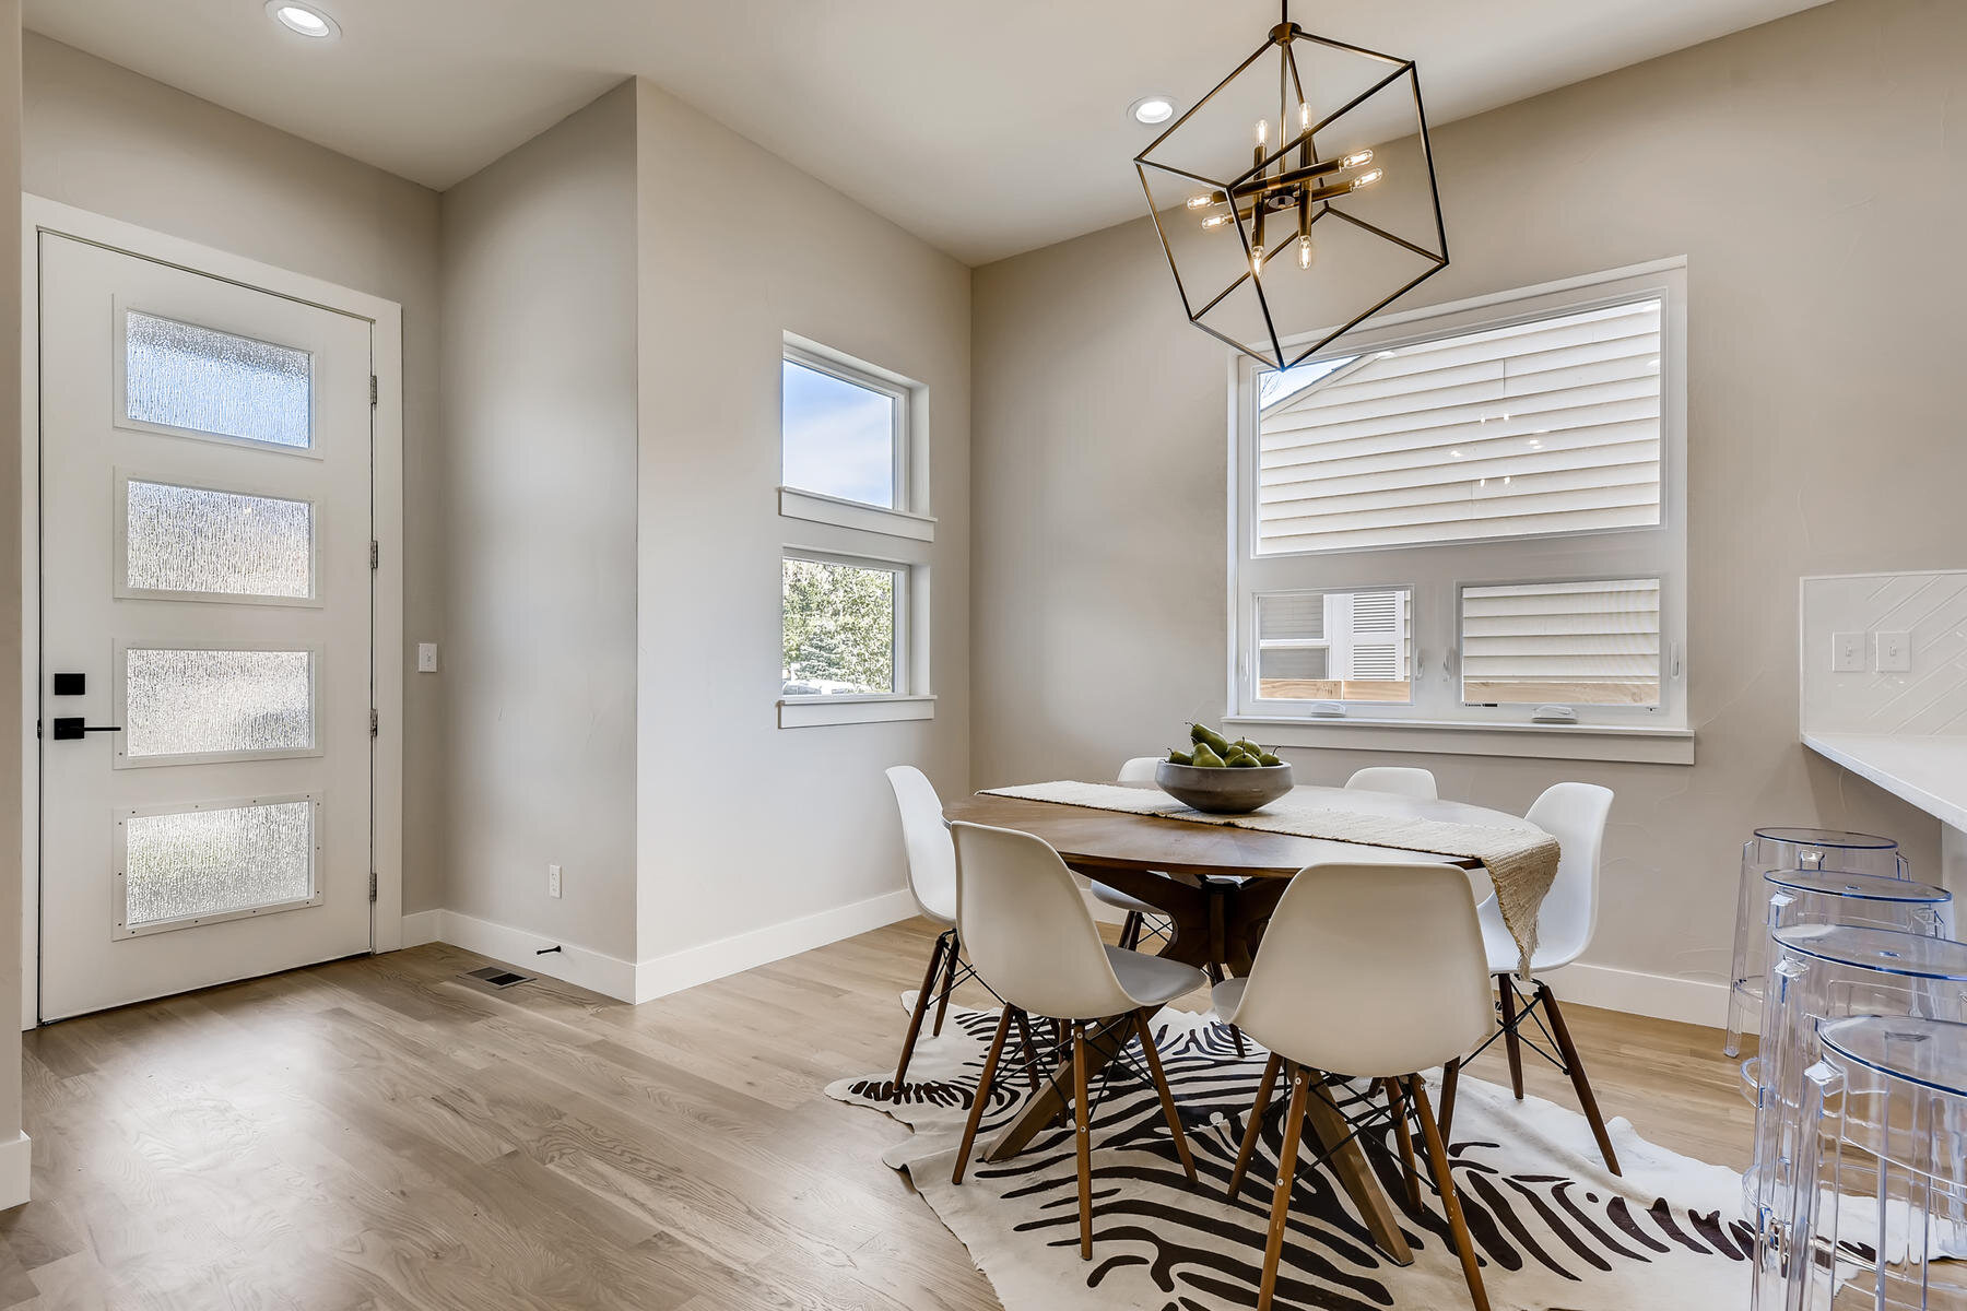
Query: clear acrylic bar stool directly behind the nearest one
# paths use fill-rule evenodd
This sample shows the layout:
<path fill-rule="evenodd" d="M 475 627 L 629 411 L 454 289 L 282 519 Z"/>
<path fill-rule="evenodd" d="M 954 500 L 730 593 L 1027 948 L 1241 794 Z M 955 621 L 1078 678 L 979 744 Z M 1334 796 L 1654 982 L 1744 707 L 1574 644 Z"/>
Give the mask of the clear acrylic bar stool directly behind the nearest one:
<path fill-rule="evenodd" d="M 1802 1134 L 1804 1071 L 1818 1061 L 1818 1022 L 1853 1014 L 1967 1022 L 1967 945 L 1847 924 L 1770 934 L 1755 1158 L 1743 1215 L 1762 1232 L 1790 1215 Z"/>

